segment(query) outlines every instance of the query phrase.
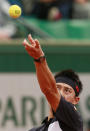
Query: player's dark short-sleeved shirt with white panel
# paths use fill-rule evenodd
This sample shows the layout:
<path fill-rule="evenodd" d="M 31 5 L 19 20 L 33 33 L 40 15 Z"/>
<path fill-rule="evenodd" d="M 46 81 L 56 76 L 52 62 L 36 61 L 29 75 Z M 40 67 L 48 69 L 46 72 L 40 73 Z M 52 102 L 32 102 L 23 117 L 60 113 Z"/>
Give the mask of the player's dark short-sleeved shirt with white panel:
<path fill-rule="evenodd" d="M 83 131 L 83 122 L 80 114 L 70 102 L 61 97 L 60 104 L 53 113 L 54 118 L 48 118 L 42 122 L 40 127 L 29 131 Z"/>

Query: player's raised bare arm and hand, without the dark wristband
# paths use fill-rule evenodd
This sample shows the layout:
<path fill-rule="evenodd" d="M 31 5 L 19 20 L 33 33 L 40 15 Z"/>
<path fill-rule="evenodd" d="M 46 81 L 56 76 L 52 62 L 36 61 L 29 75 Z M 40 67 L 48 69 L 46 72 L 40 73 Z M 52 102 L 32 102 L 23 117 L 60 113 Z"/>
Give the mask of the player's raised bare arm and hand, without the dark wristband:
<path fill-rule="evenodd" d="M 28 39 L 31 45 L 26 40 L 23 42 L 28 54 L 34 59 L 38 59 L 40 56 L 43 56 L 44 53 L 40 47 L 39 42 L 37 40 L 33 40 L 30 35 L 28 36 Z M 58 89 L 56 88 L 54 76 L 50 71 L 46 60 L 43 60 L 42 62 L 35 62 L 35 67 L 40 88 L 45 94 L 53 110 L 56 111 L 61 96 L 58 92 Z"/>

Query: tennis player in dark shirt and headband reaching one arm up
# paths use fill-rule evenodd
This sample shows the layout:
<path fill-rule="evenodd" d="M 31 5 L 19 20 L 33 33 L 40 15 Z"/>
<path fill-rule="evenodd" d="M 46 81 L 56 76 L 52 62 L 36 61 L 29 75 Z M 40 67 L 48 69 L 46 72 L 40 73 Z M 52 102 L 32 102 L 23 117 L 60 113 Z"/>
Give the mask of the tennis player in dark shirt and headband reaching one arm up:
<path fill-rule="evenodd" d="M 82 83 L 72 70 L 65 70 L 53 76 L 39 41 L 28 35 L 23 45 L 33 57 L 40 89 L 50 105 L 48 117 L 40 127 L 29 131 L 83 131 L 83 122 L 75 105 L 78 104 Z"/>

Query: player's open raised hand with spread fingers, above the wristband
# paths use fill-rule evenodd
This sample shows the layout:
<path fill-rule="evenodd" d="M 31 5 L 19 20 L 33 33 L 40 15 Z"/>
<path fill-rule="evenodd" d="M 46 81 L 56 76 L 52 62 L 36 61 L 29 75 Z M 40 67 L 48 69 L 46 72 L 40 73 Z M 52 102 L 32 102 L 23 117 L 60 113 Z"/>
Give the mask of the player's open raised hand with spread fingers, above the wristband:
<path fill-rule="evenodd" d="M 28 35 L 28 40 L 24 39 L 23 45 L 28 52 L 30 56 L 32 56 L 34 59 L 38 59 L 39 57 L 44 55 L 44 52 L 41 49 L 40 43 L 37 39 L 33 39 L 32 36 L 29 34 Z"/>

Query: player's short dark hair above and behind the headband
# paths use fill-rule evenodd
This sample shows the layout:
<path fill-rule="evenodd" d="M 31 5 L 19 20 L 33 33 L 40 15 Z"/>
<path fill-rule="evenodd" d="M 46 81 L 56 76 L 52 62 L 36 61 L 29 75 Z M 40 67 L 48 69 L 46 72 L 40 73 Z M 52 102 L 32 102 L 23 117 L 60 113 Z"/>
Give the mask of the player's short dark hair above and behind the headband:
<path fill-rule="evenodd" d="M 61 72 L 58 72 L 58 73 L 55 74 L 54 77 L 55 77 L 55 79 L 58 78 L 58 77 L 67 77 L 67 78 L 71 79 L 79 87 L 79 93 L 78 93 L 78 95 L 81 93 L 81 91 L 83 89 L 82 88 L 82 82 L 79 79 L 78 74 L 76 72 L 74 72 L 72 69 L 63 70 Z"/>

